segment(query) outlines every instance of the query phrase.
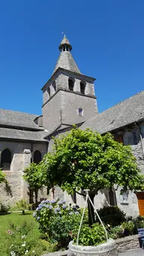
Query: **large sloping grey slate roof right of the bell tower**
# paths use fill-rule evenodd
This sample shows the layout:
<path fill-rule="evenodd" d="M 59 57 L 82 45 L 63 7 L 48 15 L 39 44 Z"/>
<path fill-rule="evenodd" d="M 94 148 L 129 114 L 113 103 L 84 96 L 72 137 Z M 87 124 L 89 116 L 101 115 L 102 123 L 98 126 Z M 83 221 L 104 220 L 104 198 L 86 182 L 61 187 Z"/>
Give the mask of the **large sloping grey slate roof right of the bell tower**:
<path fill-rule="evenodd" d="M 144 91 L 98 113 L 87 120 L 81 128 L 92 128 L 104 134 L 142 119 L 144 119 Z"/>

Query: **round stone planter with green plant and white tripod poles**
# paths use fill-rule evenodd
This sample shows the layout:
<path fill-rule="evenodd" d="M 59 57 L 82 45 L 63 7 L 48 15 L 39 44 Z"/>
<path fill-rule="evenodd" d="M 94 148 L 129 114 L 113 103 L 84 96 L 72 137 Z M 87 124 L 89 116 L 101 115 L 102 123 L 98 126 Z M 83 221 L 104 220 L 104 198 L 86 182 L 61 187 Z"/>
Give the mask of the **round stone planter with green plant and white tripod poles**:
<path fill-rule="evenodd" d="M 83 224 L 83 216 L 86 209 L 86 203 L 92 204 L 95 209 L 95 214 L 99 218 L 101 224 L 95 223 L 91 227 Z M 101 221 L 98 211 L 89 197 L 89 191 L 86 190 L 86 203 L 83 209 L 83 216 L 80 222 L 80 228 L 77 237 L 68 245 L 68 256 L 118 256 L 117 245 L 114 239 L 108 239 L 107 230 Z"/>

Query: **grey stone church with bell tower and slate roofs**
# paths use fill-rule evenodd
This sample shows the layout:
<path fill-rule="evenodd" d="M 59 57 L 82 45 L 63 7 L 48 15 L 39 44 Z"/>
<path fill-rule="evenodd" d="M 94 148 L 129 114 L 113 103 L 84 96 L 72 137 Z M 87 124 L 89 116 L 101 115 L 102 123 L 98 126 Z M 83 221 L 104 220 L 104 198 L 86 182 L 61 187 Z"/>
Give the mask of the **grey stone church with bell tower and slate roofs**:
<path fill-rule="evenodd" d="M 0 185 L 2 203 L 13 205 L 28 198 L 23 170 L 31 162 L 39 163 L 52 149 L 52 137 L 65 134 L 74 124 L 101 134 L 110 132 L 115 140 L 131 145 L 144 173 L 144 91 L 99 113 L 95 78 L 81 74 L 66 36 L 58 49 L 55 69 L 42 88 L 42 115 L 0 109 L 0 167 L 9 182 L 9 189 Z M 55 194 L 73 202 L 73 197 L 60 188 L 55 188 Z M 83 206 L 80 195 L 74 200 Z M 121 195 L 120 188 L 103 190 L 95 196 L 95 205 L 118 205 L 127 215 L 144 215 L 144 192 L 127 191 Z"/>

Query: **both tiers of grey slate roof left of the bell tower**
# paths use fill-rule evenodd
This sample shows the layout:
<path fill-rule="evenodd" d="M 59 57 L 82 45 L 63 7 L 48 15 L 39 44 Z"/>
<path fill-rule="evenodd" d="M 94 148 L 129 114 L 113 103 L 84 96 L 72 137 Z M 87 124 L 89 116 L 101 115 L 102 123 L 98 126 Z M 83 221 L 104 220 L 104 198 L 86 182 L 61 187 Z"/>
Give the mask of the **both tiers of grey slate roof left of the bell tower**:
<path fill-rule="evenodd" d="M 0 109 L 0 139 L 46 142 L 47 132 L 34 119 L 37 115 Z"/>

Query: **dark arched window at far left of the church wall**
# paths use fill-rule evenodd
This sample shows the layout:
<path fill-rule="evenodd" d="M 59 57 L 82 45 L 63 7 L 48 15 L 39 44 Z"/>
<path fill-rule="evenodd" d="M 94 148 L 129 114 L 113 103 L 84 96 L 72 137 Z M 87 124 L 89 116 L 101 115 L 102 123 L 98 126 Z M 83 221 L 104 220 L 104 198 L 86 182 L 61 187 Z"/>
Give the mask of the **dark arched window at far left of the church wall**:
<path fill-rule="evenodd" d="M 11 164 L 11 152 L 9 149 L 5 149 L 1 153 L 1 168 L 2 170 L 10 170 Z"/>

